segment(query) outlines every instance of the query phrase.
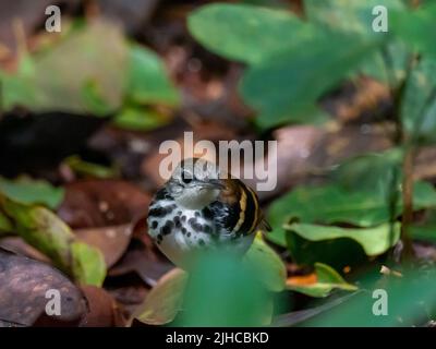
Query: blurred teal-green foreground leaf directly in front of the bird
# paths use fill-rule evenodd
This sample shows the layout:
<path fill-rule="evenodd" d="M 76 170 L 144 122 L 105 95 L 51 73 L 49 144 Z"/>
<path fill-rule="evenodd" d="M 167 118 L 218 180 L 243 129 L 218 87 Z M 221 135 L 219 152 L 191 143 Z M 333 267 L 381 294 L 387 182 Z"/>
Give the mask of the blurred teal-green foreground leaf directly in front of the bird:
<path fill-rule="evenodd" d="M 257 270 L 226 251 L 209 250 L 190 268 L 181 326 L 262 326 L 271 322 L 272 292 Z"/>

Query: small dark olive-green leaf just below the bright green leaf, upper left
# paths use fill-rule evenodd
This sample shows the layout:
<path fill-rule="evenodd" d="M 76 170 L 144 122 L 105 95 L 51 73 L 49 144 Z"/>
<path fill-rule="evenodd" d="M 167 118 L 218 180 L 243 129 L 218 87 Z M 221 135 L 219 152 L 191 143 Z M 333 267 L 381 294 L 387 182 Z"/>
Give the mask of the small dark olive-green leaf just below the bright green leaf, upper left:
<path fill-rule="evenodd" d="M 125 130 L 149 131 L 167 124 L 171 117 L 142 106 L 125 106 L 113 119 L 113 124 Z"/>

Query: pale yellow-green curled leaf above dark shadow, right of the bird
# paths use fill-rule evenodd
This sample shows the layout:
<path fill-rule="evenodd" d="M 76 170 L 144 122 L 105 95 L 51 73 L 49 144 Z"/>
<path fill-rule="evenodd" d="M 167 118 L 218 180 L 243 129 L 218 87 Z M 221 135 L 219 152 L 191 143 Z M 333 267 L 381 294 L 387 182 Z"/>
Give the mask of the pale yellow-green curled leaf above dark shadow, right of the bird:
<path fill-rule="evenodd" d="M 393 229 L 391 229 L 393 228 Z M 308 241 L 351 239 L 356 241 L 366 255 L 376 256 L 385 253 L 400 238 L 400 225 L 384 224 L 374 228 L 339 228 L 311 224 L 286 225 L 289 234 L 296 233 Z M 391 231 L 392 230 L 392 231 Z"/>

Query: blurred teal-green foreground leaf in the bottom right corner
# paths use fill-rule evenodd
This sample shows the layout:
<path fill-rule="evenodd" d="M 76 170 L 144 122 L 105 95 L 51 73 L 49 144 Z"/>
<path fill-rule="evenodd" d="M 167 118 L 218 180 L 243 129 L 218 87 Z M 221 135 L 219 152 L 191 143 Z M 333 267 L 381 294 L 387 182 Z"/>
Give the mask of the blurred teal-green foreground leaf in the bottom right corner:
<path fill-rule="evenodd" d="M 435 269 L 421 273 L 416 267 L 407 267 L 403 277 L 386 278 L 377 272 L 361 277 L 366 292 L 360 292 L 339 306 L 330 309 L 303 326 L 320 327 L 421 327 L 434 317 Z M 387 301 L 387 313 L 376 316 L 383 300 Z M 407 301 L 405 301 L 407 300 Z"/>

